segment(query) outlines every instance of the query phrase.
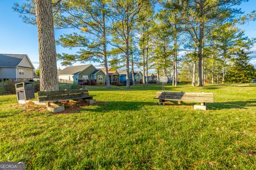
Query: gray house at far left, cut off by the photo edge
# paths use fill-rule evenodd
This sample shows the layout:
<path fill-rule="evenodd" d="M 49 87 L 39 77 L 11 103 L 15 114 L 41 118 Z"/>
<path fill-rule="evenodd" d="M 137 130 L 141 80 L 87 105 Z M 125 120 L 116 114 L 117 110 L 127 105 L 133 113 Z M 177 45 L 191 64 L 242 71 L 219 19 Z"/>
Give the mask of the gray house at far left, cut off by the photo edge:
<path fill-rule="evenodd" d="M 0 80 L 33 80 L 35 67 L 26 54 L 0 54 Z"/>

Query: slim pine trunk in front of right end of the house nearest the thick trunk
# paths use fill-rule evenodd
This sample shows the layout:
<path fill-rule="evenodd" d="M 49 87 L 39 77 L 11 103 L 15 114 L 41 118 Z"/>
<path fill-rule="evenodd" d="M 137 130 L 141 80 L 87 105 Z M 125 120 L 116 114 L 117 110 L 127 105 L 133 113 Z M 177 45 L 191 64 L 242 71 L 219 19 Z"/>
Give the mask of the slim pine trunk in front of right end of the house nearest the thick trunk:
<path fill-rule="evenodd" d="M 105 5 L 103 4 L 103 9 L 105 9 Z M 106 88 L 110 88 L 110 81 L 108 75 L 108 59 L 107 59 L 107 45 L 106 45 L 106 23 L 105 23 L 105 11 L 102 11 L 102 21 L 103 21 L 103 60 L 106 74 Z"/>

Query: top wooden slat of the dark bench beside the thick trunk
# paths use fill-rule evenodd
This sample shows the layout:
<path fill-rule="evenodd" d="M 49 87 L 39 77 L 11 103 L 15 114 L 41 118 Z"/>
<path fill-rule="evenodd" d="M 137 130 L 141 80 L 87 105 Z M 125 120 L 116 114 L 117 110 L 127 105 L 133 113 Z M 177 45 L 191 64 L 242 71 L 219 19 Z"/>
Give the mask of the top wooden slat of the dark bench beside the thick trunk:
<path fill-rule="evenodd" d="M 60 96 L 60 95 L 67 95 L 67 94 L 83 94 L 87 93 L 87 89 L 81 89 L 81 90 L 60 90 L 60 91 L 38 91 L 38 97 L 41 96 Z"/>

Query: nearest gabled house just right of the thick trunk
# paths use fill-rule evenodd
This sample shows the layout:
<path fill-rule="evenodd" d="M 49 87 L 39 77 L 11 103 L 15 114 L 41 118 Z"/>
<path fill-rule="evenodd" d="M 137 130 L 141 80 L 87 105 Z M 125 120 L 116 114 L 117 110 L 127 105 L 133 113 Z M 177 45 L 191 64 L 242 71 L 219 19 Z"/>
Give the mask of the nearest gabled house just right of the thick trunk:
<path fill-rule="evenodd" d="M 60 82 L 79 83 L 84 85 L 105 84 L 105 73 L 96 69 L 92 64 L 68 66 L 63 70 L 58 70 Z"/>

